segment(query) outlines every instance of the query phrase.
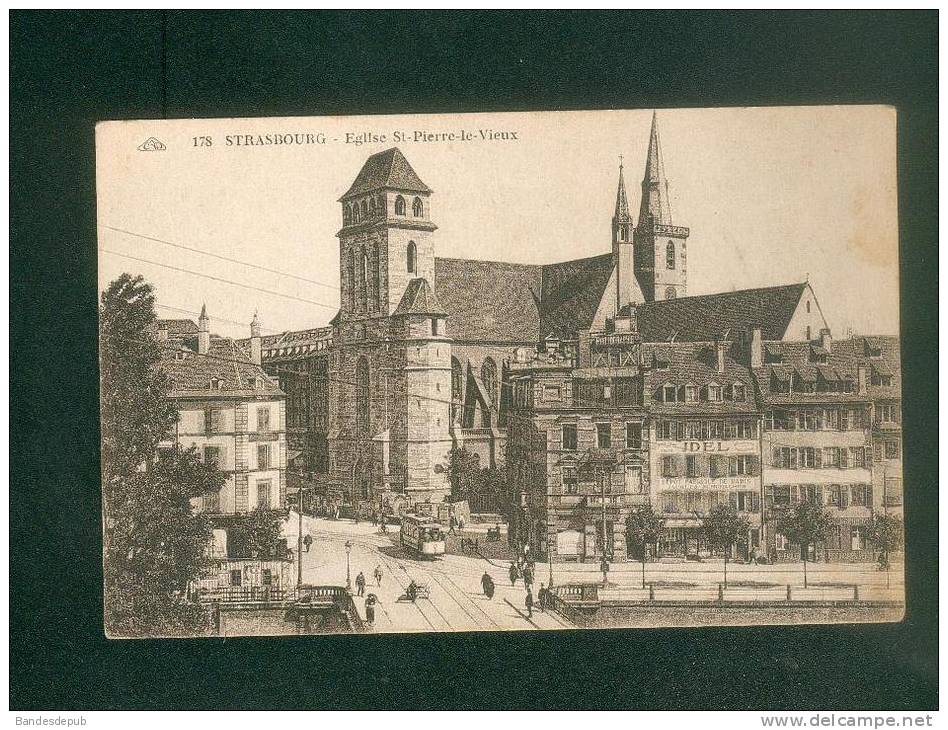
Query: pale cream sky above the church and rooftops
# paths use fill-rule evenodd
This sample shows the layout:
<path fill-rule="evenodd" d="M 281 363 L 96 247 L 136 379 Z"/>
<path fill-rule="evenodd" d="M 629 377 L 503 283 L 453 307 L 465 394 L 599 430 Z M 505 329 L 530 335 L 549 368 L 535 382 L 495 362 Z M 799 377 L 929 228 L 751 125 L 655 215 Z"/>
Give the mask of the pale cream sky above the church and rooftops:
<path fill-rule="evenodd" d="M 691 229 L 690 295 L 808 279 L 836 337 L 898 332 L 894 109 L 657 114 L 673 222 Z M 100 289 L 122 272 L 142 274 L 160 317 L 196 318 L 206 303 L 222 335 L 248 336 L 255 311 L 266 332 L 324 325 L 339 305 L 338 198 L 369 155 L 392 146 L 434 191 L 438 256 L 539 264 L 606 253 L 620 155 L 638 223 L 651 117 L 648 109 L 100 123 Z M 469 138 L 434 137 L 461 130 Z M 516 139 L 490 139 L 488 130 Z M 267 134 L 310 134 L 314 143 L 236 144 Z M 150 137 L 165 149 L 138 150 Z"/>

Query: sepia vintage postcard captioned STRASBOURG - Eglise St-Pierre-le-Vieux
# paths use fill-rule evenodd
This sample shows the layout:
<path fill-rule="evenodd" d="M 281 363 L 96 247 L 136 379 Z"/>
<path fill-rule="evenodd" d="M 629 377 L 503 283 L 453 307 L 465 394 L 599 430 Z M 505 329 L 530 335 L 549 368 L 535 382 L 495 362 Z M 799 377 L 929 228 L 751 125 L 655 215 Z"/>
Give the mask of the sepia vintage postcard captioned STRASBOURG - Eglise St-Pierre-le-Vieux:
<path fill-rule="evenodd" d="M 900 620 L 895 131 L 100 123 L 106 633 Z"/>

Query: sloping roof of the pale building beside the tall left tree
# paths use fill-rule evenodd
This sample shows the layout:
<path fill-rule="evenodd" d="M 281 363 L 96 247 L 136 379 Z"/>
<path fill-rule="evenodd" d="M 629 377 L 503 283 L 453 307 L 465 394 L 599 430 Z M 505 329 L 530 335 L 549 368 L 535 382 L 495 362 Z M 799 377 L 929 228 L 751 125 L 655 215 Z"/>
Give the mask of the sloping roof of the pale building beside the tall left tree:
<path fill-rule="evenodd" d="M 228 337 L 211 337 L 207 356 L 199 355 L 180 343 L 164 343 L 161 369 L 171 380 L 171 396 L 282 396 L 283 391 L 249 355 Z M 211 388 L 211 380 L 221 381 L 220 390 Z M 254 388 L 259 378 L 262 388 Z"/>

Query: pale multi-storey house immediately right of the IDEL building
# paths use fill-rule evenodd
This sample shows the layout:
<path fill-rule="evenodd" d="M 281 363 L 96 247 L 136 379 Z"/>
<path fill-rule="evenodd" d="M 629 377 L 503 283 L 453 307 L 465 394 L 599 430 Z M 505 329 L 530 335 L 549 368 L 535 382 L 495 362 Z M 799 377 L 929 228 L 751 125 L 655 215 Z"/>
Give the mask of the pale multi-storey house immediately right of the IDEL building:
<path fill-rule="evenodd" d="M 782 511 L 824 505 L 833 528 L 827 559 L 871 559 L 867 522 L 881 495 L 873 488 L 871 397 L 857 340 L 772 342 L 756 332 L 751 365 L 764 411 L 764 532 L 768 554 L 797 560 L 799 546 L 779 531 Z M 811 547 L 817 557 L 817 547 Z M 822 557 L 822 556 L 820 556 Z"/>

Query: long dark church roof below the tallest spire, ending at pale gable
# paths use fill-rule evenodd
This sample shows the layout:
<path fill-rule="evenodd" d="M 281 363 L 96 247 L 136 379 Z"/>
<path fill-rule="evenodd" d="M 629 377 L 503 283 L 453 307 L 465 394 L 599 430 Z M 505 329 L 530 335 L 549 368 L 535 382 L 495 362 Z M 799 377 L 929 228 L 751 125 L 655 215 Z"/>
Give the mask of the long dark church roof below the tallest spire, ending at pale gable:
<path fill-rule="evenodd" d="M 675 337 L 710 342 L 730 330 L 731 337 L 760 327 L 765 340 L 783 339 L 807 284 L 743 289 L 721 294 L 681 297 L 636 307 L 639 332 L 646 342 Z"/>

